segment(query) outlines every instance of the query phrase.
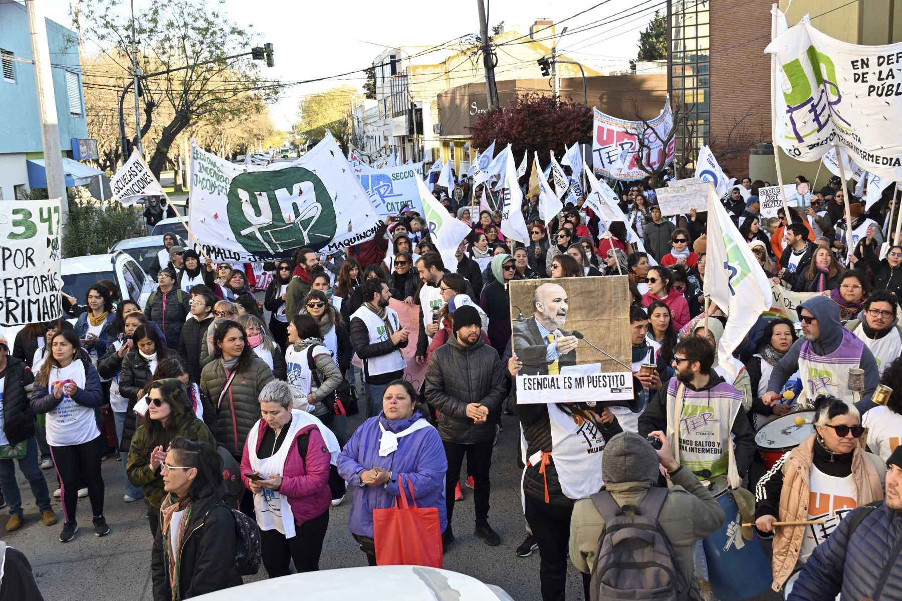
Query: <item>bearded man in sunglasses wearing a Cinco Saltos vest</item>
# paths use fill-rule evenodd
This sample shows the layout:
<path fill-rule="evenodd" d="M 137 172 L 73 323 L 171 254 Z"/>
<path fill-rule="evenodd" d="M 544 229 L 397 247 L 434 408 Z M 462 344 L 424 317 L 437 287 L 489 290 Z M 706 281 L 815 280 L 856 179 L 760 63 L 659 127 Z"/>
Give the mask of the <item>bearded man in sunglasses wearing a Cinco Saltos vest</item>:
<path fill-rule="evenodd" d="M 749 470 L 755 432 L 742 409 L 742 393 L 723 381 L 713 363 L 714 348 L 704 338 L 688 337 L 676 345 L 672 364 L 676 375 L 649 401 L 639 418 L 639 433 L 666 431 L 670 447 L 679 453 L 679 464 L 700 480 L 714 480 L 715 488 L 723 490 L 728 476 L 738 479 L 731 482 L 737 486 Z M 734 473 L 731 445 L 735 445 Z"/>

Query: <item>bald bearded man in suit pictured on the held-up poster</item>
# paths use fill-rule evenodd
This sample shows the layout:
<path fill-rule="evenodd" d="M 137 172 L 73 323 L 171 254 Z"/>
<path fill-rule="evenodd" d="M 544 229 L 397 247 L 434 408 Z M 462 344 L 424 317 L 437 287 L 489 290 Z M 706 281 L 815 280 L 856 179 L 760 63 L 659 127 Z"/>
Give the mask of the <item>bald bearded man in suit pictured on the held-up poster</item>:
<path fill-rule="evenodd" d="M 561 329 L 569 302 L 556 283 L 544 283 L 532 293 L 532 319 L 513 324 L 514 352 L 523 362 L 520 374 L 557 375 L 561 367 L 576 365 L 579 339 Z"/>

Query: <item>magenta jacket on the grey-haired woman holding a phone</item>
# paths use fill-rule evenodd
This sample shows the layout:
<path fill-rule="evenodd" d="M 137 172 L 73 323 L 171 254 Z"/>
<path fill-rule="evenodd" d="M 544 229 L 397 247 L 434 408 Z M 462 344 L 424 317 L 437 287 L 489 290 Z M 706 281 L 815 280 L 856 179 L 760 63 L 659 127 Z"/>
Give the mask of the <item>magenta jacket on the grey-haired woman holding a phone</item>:
<path fill-rule="evenodd" d="M 266 421 L 261 420 L 257 424 L 257 448 L 255 449 L 257 451 L 260 450 L 263 434 L 266 433 L 267 428 L 269 426 L 266 425 Z M 298 448 L 298 437 L 305 432 L 310 433 L 310 439 L 307 445 L 307 458 L 302 459 L 299 450 L 296 449 Z M 244 442 L 244 453 L 241 457 L 241 479 L 248 490 L 251 487 L 247 485 L 249 481 L 244 474 L 253 472 L 247 448 L 250 440 L 251 437 L 247 437 Z M 282 444 L 288 443 L 283 442 Z M 301 428 L 294 440 L 291 441 L 291 445 L 294 448 L 289 451 L 288 458 L 285 459 L 285 469 L 279 492 L 288 497 L 291 513 L 294 514 L 294 522 L 300 525 L 322 515 L 332 502 L 332 493 L 329 492 L 328 485 L 329 452 L 322 434 L 314 425 Z"/>

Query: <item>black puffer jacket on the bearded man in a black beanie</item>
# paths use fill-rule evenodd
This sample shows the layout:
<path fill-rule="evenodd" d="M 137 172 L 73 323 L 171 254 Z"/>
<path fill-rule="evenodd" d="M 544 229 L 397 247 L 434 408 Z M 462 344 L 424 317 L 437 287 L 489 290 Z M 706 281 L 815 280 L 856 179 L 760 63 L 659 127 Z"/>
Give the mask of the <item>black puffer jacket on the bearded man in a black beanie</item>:
<path fill-rule="evenodd" d="M 442 440 L 471 445 L 494 438 L 495 418 L 505 396 L 501 359 L 482 338 L 465 347 L 454 337 L 432 354 L 426 371 L 426 400 L 440 412 Z M 471 402 L 488 408 L 488 420 L 476 424 L 467 417 L 466 406 Z"/>

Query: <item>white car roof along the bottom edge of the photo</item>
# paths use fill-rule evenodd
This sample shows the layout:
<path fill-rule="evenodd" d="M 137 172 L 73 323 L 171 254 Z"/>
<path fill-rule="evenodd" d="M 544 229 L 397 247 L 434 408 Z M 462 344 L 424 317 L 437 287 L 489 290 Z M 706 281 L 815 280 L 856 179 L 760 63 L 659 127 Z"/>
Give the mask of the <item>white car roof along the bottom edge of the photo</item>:
<path fill-rule="evenodd" d="M 501 587 L 448 569 L 423 566 L 373 566 L 321 569 L 260 580 L 196 597 L 198 601 L 513 601 Z"/>

